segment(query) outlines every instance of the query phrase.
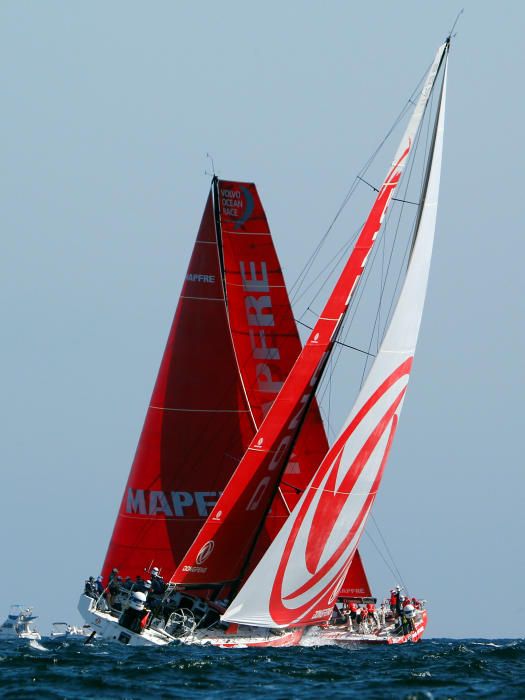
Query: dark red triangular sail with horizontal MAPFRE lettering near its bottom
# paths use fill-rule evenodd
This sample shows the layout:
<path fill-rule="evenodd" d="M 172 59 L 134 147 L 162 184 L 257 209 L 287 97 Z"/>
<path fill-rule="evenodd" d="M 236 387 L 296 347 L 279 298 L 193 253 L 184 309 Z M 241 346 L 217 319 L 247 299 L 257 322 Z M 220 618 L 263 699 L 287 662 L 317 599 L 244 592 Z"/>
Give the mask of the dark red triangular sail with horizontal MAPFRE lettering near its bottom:
<path fill-rule="evenodd" d="M 103 574 L 174 571 L 254 433 L 208 198 Z"/>

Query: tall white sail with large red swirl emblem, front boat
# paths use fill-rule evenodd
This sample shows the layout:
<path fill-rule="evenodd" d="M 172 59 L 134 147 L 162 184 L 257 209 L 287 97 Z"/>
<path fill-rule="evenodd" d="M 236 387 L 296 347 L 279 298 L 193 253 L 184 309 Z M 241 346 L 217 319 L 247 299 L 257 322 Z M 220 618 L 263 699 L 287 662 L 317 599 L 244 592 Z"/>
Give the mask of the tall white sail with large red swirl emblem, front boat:
<path fill-rule="evenodd" d="M 331 615 L 379 486 L 412 366 L 434 240 L 445 91 L 446 65 L 426 198 L 381 348 L 339 437 L 224 620 L 290 627 Z"/>

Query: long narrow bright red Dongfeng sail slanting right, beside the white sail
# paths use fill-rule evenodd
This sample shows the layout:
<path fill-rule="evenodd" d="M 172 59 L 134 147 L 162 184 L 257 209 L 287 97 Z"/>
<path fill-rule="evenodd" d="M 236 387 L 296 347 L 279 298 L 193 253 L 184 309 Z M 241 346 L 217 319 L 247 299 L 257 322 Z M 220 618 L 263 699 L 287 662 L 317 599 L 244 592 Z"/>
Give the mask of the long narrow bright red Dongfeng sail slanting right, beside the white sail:
<path fill-rule="evenodd" d="M 310 404 L 355 286 L 410 151 L 411 140 L 388 172 L 356 245 L 281 391 L 217 505 L 200 530 L 172 582 L 204 585 L 237 580 L 244 572 L 254 534 L 273 498 L 305 408 Z"/>

